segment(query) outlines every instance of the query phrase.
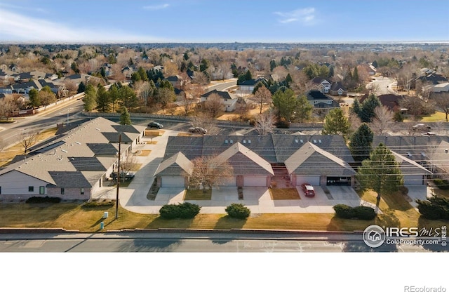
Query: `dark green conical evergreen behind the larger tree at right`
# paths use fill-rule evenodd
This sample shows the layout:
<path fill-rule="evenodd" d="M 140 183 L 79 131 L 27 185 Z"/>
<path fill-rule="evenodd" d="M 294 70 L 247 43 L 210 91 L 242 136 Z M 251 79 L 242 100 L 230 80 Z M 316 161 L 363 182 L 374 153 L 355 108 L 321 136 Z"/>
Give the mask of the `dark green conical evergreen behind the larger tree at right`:
<path fill-rule="evenodd" d="M 349 142 L 349 150 L 351 150 L 354 161 L 361 162 L 370 158 L 373 137 L 373 131 L 365 123 L 361 124 L 354 134 L 352 134 L 351 141 Z"/>

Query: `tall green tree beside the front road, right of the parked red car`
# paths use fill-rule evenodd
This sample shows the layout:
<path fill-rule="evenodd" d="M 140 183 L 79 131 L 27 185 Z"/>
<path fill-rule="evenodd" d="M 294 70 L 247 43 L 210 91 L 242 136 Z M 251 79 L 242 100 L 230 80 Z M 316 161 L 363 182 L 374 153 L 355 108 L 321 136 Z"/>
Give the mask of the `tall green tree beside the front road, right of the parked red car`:
<path fill-rule="evenodd" d="M 358 168 L 357 180 L 363 188 L 377 192 L 377 213 L 381 195 L 396 192 L 403 185 L 403 174 L 394 154 L 380 143 Z"/>

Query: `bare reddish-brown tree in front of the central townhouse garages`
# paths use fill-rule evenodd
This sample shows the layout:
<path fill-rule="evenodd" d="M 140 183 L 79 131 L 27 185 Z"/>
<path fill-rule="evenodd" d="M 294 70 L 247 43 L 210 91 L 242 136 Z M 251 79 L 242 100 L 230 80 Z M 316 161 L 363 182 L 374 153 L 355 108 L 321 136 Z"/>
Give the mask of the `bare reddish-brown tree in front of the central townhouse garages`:
<path fill-rule="evenodd" d="M 215 185 L 226 183 L 234 171 L 227 161 L 220 157 L 197 157 L 192 160 L 194 168 L 190 176 L 189 186 L 195 189 L 211 190 Z"/>

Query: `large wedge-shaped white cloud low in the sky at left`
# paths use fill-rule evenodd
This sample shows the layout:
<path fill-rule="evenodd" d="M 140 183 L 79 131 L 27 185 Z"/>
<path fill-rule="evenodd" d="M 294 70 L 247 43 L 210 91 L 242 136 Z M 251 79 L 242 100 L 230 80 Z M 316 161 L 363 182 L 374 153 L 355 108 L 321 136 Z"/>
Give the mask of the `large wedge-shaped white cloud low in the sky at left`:
<path fill-rule="evenodd" d="M 30 18 L 0 8 L 0 41 L 25 42 L 142 42 L 160 41 L 150 36 L 138 36 L 114 29 L 100 30 L 98 27 L 71 28 L 57 22 Z"/>

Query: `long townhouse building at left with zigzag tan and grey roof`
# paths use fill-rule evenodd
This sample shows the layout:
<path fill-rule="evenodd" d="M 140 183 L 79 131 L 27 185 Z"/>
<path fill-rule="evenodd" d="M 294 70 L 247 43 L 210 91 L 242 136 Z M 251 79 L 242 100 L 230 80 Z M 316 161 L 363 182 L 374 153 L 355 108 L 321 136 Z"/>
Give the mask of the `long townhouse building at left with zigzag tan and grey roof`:
<path fill-rule="evenodd" d="M 23 159 L 0 168 L 0 200 L 29 197 L 91 199 L 119 159 L 140 142 L 145 126 L 122 126 L 98 117 L 43 142 Z"/>

